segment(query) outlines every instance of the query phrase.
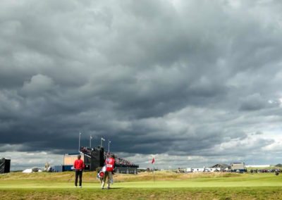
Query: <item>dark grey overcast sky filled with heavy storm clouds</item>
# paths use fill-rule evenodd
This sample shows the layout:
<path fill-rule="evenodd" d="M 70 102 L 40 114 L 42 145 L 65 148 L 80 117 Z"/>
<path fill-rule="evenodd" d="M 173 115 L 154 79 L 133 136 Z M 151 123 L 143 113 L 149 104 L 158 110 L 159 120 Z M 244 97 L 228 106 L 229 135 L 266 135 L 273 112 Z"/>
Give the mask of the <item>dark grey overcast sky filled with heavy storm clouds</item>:
<path fill-rule="evenodd" d="M 282 162 L 281 1 L 0 5 L 12 169 L 61 164 L 79 132 L 142 168 Z"/>

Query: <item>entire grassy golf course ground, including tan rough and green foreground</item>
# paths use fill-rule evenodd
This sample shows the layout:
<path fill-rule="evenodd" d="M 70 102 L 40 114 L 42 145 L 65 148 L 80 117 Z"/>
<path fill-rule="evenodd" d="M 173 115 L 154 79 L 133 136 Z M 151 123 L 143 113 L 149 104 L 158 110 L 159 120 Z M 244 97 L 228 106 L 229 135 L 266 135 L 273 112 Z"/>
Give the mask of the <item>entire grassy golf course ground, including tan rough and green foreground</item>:
<path fill-rule="evenodd" d="M 282 176 L 274 173 L 173 173 L 114 175 L 100 188 L 96 173 L 83 174 L 82 188 L 65 173 L 0 175 L 1 199 L 282 199 Z"/>

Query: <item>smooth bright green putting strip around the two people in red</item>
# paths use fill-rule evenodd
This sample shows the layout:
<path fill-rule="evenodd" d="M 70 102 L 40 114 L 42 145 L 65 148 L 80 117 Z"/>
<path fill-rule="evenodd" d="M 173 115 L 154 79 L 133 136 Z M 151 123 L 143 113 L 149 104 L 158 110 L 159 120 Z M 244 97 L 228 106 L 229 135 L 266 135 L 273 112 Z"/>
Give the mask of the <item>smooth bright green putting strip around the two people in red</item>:
<path fill-rule="evenodd" d="M 20 188 L 72 188 L 73 180 L 1 180 L 0 189 Z M 99 188 L 100 183 L 93 179 L 83 182 L 84 188 Z M 114 182 L 117 188 L 182 188 L 182 187 L 282 187 L 282 176 L 255 174 L 244 177 L 200 177 L 187 180 L 161 180 Z"/>

